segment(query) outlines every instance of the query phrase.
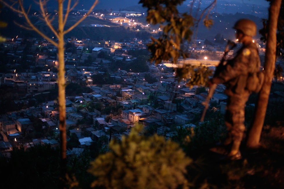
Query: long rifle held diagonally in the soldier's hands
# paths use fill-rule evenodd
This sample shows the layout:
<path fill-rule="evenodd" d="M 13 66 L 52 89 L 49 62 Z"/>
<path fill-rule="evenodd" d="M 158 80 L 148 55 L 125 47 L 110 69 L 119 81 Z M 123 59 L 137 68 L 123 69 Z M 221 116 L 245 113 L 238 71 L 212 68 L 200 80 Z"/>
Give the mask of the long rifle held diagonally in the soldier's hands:
<path fill-rule="evenodd" d="M 229 48 L 229 47 L 230 47 L 230 48 Z M 226 45 L 226 47 L 225 47 L 225 51 L 224 51 L 223 57 L 222 57 L 222 59 L 220 60 L 220 63 L 218 64 L 218 66 L 216 67 L 216 71 L 215 71 L 215 73 L 214 73 L 214 76 L 215 76 L 217 73 L 219 73 L 219 72 L 223 69 L 223 67 L 225 66 L 225 57 L 227 56 L 228 52 L 229 52 L 230 50 L 232 50 L 234 47 L 236 47 L 236 43 L 234 43 L 234 42 L 231 41 L 231 40 L 228 40 L 227 45 Z M 214 77 L 214 76 L 213 76 L 213 77 Z M 212 98 L 216 87 L 217 87 L 217 84 L 215 84 L 215 83 L 213 83 L 213 84 L 210 86 L 208 95 L 207 95 L 205 101 L 202 102 L 202 104 L 203 104 L 203 106 L 204 106 L 204 109 L 203 109 L 203 113 L 202 113 L 201 118 L 200 118 L 200 122 L 203 122 L 203 120 L 204 120 L 206 111 L 207 111 L 207 109 L 208 109 L 208 107 L 209 107 L 210 99 Z"/>

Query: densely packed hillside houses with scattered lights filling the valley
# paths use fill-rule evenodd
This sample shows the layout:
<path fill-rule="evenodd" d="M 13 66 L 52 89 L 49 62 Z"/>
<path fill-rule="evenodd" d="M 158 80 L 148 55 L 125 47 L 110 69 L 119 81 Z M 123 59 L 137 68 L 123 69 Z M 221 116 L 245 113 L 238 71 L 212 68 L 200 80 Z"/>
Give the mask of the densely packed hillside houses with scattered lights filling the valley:
<path fill-rule="evenodd" d="M 146 50 L 148 42 L 138 39 L 127 42 L 76 38 L 66 40 L 66 80 L 70 84 L 76 83 L 88 88 L 86 93 L 66 95 L 68 140 L 72 135 L 79 140 L 79 145 L 68 149 L 69 154 L 80 153 L 102 136 L 120 139 L 122 135 L 128 135 L 135 124 L 143 124 L 146 130 L 155 128 L 155 133 L 168 138 L 174 136 L 176 128 L 180 126 L 194 127 L 196 124 L 202 124 L 199 119 L 208 89 L 198 86 L 190 89 L 186 86 L 186 81 L 178 82 L 173 71 L 174 65 L 168 62 L 154 65 L 147 61 L 147 71 L 134 72 L 131 65 L 133 61 L 139 60 L 129 52 Z M 196 40 L 188 44 L 192 57 L 179 62 L 203 64 L 214 71 L 223 56 L 222 46 L 224 45 L 218 43 L 214 45 L 214 42 L 206 44 L 206 40 Z M 258 47 L 260 54 L 263 54 L 264 48 L 261 45 Z M 14 99 L 13 103 L 26 107 L 1 115 L 1 154 L 9 156 L 12 148 L 20 146 L 57 146 L 57 100 L 46 99 L 44 102 L 37 102 L 36 99 L 56 91 L 57 49 L 43 39 L 7 38 L 5 43 L 0 44 L 0 50 L 5 53 L 8 61 L 6 69 L 10 70 L 10 73 L 0 73 L 0 85 L 16 91 L 18 98 Z M 234 50 L 231 50 L 229 56 L 233 53 Z M 18 71 L 15 68 L 19 67 L 18 62 L 23 58 L 30 64 L 22 69 L 25 71 Z M 129 70 L 119 68 L 118 63 L 128 65 Z M 103 80 L 106 72 L 107 80 L 113 81 L 112 83 L 99 84 L 94 80 L 95 76 Z M 149 78 L 152 82 L 148 82 Z M 215 102 L 212 108 L 221 114 L 225 112 L 227 99 L 223 93 L 224 89 L 225 86 L 219 85 L 211 99 Z M 283 93 L 272 95 L 272 99 L 283 102 Z M 36 105 L 28 103 L 31 100 Z"/>

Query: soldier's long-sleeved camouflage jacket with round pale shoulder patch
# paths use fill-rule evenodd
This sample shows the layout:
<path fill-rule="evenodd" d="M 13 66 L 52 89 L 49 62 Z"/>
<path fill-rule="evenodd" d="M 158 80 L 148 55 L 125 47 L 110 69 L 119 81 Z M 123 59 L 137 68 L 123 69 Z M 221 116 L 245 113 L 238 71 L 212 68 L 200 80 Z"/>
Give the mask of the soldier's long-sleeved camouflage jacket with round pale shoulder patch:
<path fill-rule="evenodd" d="M 212 82 L 223 83 L 226 86 L 225 93 L 241 94 L 244 92 L 249 74 L 259 72 L 260 59 L 258 49 L 254 43 L 243 45 L 236 56 L 228 60 L 226 65 L 216 71 Z"/>

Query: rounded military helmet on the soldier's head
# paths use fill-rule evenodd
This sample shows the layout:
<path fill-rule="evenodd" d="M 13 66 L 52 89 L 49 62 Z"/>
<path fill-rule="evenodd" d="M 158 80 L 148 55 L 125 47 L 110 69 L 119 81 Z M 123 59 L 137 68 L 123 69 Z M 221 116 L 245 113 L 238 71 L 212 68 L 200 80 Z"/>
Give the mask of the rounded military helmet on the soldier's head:
<path fill-rule="evenodd" d="M 255 36 L 256 35 L 256 24 L 254 21 L 249 20 L 249 19 L 240 19 L 238 20 L 234 27 L 236 30 L 240 30 L 243 32 L 245 35 L 248 36 Z"/>

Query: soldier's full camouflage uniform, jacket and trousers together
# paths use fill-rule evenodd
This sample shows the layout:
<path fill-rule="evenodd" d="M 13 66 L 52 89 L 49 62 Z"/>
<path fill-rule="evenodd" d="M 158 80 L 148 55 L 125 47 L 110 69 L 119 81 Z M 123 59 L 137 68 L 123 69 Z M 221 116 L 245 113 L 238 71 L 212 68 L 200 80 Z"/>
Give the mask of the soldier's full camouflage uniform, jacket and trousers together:
<path fill-rule="evenodd" d="M 241 142 L 245 131 L 245 104 L 251 91 L 246 88 L 247 77 L 258 72 L 260 59 L 258 49 L 252 42 L 243 45 L 236 56 L 228 60 L 220 71 L 216 71 L 212 83 L 223 83 L 228 96 L 225 124 L 229 137 L 234 142 Z"/>

